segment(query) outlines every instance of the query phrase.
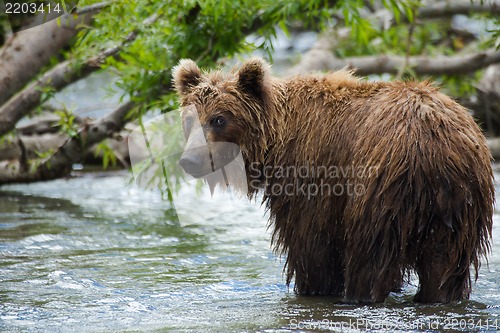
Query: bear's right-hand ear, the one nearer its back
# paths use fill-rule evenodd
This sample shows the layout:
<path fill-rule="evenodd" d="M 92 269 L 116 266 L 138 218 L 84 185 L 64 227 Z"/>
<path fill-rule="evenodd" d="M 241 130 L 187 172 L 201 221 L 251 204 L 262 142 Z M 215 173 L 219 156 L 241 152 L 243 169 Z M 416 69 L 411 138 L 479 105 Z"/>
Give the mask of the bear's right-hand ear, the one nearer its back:
<path fill-rule="evenodd" d="M 269 65 L 262 59 L 251 59 L 237 73 L 238 88 L 259 99 L 264 98 L 269 76 Z"/>

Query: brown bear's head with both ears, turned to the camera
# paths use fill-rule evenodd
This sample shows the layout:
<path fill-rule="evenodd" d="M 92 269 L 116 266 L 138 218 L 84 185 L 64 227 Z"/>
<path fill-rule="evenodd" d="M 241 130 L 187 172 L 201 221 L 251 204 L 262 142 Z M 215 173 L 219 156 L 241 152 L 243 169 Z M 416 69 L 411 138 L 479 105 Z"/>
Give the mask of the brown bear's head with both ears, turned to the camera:
<path fill-rule="evenodd" d="M 260 59 L 229 73 L 202 72 L 187 59 L 173 69 L 187 142 L 179 161 L 184 171 L 202 177 L 231 162 L 240 150 L 245 160 L 254 160 L 265 148 L 268 72 L 269 65 Z"/>

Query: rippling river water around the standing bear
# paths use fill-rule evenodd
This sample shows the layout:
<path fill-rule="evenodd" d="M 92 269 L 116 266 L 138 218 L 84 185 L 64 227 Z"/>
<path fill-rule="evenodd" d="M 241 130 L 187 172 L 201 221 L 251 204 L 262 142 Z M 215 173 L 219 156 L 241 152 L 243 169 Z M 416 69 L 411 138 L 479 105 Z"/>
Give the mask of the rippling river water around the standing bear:
<path fill-rule="evenodd" d="M 2 187 L 1 332 L 500 331 L 498 214 L 470 301 L 416 305 L 409 285 L 384 304 L 352 306 L 286 287 L 258 204 L 182 224 L 129 178 Z"/>

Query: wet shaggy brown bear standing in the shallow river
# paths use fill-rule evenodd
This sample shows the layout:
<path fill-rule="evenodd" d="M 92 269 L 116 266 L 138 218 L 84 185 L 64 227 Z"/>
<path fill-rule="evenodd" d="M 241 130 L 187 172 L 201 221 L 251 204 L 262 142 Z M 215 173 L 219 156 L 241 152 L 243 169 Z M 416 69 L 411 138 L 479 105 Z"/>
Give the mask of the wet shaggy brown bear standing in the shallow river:
<path fill-rule="evenodd" d="M 248 195 L 263 192 L 286 254 L 287 284 L 295 276 L 300 295 L 371 303 L 416 272 L 415 301 L 467 299 L 494 204 L 491 155 L 467 110 L 430 82 L 269 72 L 260 59 L 230 73 L 182 60 L 174 83 L 209 148 L 240 147 Z M 180 164 L 200 175 L 213 161 L 191 148 Z"/>

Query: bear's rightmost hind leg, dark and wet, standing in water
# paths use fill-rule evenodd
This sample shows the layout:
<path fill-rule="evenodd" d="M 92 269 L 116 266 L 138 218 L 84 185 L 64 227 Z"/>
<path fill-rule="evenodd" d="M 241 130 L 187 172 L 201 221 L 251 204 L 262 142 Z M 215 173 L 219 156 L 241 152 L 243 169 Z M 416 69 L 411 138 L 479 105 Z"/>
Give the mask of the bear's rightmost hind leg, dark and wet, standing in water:
<path fill-rule="evenodd" d="M 470 294 L 472 249 L 461 246 L 461 237 L 440 221 L 434 221 L 428 237 L 421 242 L 416 258 L 420 280 L 415 302 L 448 303 L 467 299 Z"/>

